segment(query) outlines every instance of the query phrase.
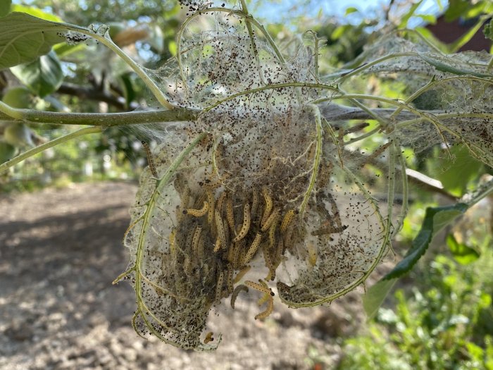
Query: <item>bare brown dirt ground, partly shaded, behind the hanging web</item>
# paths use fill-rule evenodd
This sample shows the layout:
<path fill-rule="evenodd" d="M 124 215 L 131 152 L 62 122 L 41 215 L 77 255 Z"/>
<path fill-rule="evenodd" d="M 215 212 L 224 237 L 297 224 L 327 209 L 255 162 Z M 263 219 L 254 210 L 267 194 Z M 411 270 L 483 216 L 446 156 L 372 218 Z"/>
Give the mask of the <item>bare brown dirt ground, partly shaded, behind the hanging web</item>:
<path fill-rule="evenodd" d="M 127 266 L 121 242 L 137 186 L 77 184 L 0 196 L 0 369 L 332 369 L 341 338 L 365 320 L 353 292 L 330 307 L 276 300 L 255 321 L 256 297 L 223 304 L 209 327 L 216 352 L 139 338 L 135 295 L 112 285 Z"/>

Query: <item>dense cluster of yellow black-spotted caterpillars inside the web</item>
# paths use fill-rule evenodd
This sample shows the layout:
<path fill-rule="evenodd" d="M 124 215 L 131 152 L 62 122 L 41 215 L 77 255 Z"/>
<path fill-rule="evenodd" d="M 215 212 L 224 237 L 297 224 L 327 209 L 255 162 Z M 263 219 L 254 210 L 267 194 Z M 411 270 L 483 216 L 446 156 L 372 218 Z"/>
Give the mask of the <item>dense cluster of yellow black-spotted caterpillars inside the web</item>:
<path fill-rule="evenodd" d="M 241 290 L 262 292 L 261 304 L 267 302 L 267 308 L 256 319 L 263 319 L 273 309 L 274 293 L 267 283 L 246 280 L 236 288 L 235 284 L 249 271 L 249 263 L 258 253 L 268 269 L 266 280 L 275 279 L 277 266 L 292 244 L 299 211 L 277 206 L 267 187 L 235 194 L 223 190 L 219 181 L 199 185 L 200 191 L 194 196 L 185 178 L 177 175 L 180 205 L 176 209 L 177 226 L 169 236 L 170 255 L 179 260 L 178 264 L 182 261 L 186 274 L 193 274 L 204 263 L 213 266 L 214 278 L 204 280 L 216 283 L 210 295 L 215 304 L 232 295 L 234 308 Z"/>

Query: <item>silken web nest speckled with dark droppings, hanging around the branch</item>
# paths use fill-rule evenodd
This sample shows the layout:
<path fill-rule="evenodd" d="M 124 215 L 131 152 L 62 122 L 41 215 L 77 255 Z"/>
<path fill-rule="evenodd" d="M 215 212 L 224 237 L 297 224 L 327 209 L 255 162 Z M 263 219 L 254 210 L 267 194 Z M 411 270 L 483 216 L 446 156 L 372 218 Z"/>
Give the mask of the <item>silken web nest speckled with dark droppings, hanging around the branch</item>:
<path fill-rule="evenodd" d="M 249 32 L 240 11 L 193 13 L 177 45 L 178 58 L 149 73 L 172 104 L 199 115 L 154 137 L 153 165 L 142 173 L 125 234 L 130 268 L 120 277 L 135 288 L 137 333 L 214 350 L 220 335 L 207 330 L 208 314 L 224 298 L 234 307 L 246 285 L 263 292 L 268 306 L 256 316 L 263 319 L 275 309 L 270 292 L 289 307 L 309 307 L 364 283 L 405 216 L 399 140 L 418 136 L 412 125 L 396 126 L 375 132 L 381 144 L 369 153 L 346 146 L 366 125 L 336 125 L 314 104 L 337 93 L 318 78 L 318 50 L 288 47 L 284 60 Z M 453 140 L 461 121 L 447 120 L 440 124 Z M 427 125 L 420 134 L 430 143 L 442 137 Z M 492 158 L 488 137 L 476 144 Z M 252 271 L 265 281 L 249 281 Z"/>

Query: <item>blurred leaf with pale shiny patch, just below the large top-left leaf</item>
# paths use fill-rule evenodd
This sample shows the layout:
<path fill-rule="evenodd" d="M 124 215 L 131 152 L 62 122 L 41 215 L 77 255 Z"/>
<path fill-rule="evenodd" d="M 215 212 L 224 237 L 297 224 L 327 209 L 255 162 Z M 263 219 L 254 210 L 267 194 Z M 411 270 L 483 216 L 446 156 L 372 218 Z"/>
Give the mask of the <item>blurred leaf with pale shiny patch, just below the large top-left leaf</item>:
<path fill-rule="evenodd" d="M 31 63 L 12 67 L 11 71 L 20 82 L 39 97 L 46 97 L 55 92 L 63 82 L 61 64 L 54 51 L 39 56 Z"/>

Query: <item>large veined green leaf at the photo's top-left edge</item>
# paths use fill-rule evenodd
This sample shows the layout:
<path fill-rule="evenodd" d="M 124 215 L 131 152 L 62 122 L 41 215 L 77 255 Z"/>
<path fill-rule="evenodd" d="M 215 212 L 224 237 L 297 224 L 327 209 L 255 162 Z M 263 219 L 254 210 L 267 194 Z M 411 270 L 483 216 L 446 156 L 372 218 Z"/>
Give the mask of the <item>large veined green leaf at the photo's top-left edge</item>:
<path fill-rule="evenodd" d="M 0 22 L 0 70 L 28 63 L 65 41 L 67 28 L 25 13 L 10 13 Z"/>

